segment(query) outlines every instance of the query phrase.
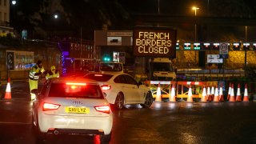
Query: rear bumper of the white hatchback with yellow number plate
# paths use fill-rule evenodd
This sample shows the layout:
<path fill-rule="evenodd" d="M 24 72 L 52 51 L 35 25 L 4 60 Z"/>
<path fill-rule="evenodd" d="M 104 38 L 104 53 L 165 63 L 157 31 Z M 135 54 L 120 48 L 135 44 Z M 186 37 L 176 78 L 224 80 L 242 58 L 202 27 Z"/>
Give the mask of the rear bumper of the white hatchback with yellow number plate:
<path fill-rule="evenodd" d="M 57 130 L 62 134 L 110 134 L 113 125 L 112 114 L 106 117 L 79 117 L 60 115 L 38 115 L 38 125 L 42 133 Z"/>

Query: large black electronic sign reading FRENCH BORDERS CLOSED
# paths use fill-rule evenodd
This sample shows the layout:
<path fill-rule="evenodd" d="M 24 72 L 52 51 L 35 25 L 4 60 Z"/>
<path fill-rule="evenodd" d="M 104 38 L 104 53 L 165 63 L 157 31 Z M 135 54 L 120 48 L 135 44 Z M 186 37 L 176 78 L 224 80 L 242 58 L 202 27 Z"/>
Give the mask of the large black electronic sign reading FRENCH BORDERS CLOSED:
<path fill-rule="evenodd" d="M 176 57 L 176 30 L 164 27 L 135 27 L 134 56 Z"/>

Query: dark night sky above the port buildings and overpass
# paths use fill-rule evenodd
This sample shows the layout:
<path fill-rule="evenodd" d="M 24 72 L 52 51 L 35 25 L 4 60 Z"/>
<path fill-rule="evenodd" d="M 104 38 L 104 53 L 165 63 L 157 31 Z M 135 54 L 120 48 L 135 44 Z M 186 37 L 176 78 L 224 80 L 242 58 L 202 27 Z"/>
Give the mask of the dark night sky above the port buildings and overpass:
<path fill-rule="evenodd" d="M 198 17 L 256 18 L 254 0 L 22 0 L 11 6 L 11 23 L 33 38 L 79 37 L 82 30 L 83 38 L 92 39 L 103 25 L 132 30 L 138 14 L 194 16 L 192 6 L 200 8 Z"/>

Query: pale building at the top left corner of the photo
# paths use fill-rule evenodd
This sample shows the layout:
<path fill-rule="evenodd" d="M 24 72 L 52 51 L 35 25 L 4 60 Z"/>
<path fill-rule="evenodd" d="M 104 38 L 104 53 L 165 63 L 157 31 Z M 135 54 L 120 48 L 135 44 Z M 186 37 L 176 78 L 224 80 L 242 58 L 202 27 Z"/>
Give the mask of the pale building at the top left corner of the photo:
<path fill-rule="evenodd" d="M 10 27 L 10 0 L 0 0 L 0 36 L 14 34 L 14 28 Z"/>

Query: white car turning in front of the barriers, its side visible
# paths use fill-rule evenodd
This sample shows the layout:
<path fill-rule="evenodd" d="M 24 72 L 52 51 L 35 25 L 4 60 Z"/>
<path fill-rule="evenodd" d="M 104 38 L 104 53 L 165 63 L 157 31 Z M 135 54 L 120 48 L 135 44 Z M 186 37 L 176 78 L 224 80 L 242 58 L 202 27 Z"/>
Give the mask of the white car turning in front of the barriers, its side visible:
<path fill-rule="evenodd" d="M 98 81 L 102 91 L 110 104 L 122 109 L 124 105 L 140 104 L 142 107 L 150 107 L 153 103 L 150 88 L 136 82 L 130 74 L 125 73 L 90 73 L 84 76 L 86 79 Z"/>

